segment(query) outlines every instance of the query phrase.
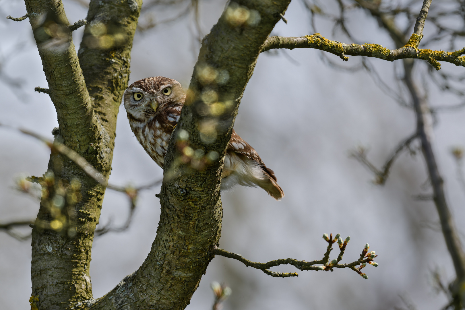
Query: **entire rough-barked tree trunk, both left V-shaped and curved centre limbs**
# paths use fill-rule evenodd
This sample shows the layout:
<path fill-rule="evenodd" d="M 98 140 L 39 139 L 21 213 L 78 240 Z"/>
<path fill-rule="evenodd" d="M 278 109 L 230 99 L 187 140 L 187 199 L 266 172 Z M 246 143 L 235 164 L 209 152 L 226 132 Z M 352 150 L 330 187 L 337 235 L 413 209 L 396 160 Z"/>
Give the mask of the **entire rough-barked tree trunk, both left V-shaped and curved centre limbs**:
<path fill-rule="evenodd" d="M 142 1 L 91 0 L 79 60 L 67 32 L 69 23 L 61 1 L 25 2 L 58 115 L 60 127 L 53 132 L 55 139 L 108 178 L 116 117 L 127 87 L 130 51 Z M 191 169 L 179 160 L 179 143 L 174 137 L 176 132 L 173 134 L 152 250 L 139 270 L 99 300 L 92 296 L 89 265 L 105 188 L 72 161 L 52 152 L 47 173 L 40 179 L 43 196 L 33 227 L 33 309 L 186 307 L 213 258 L 212 246 L 219 243 L 220 177 L 240 99 L 261 45 L 289 2 L 231 2 L 203 40 L 176 132 L 185 130 L 189 139 L 183 143 L 194 150 L 216 152 L 219 156 L 207 158 L 204 170 Z M 50 35 L 57 29 L 53 24 L 59 28 Z M 110 39 L 113 41 L 108 43 Z M 199 106 L 205 104 L 200 94 L 205 91 L 217 93 L 218 101 L 224 103 L 223 114 L 199 114 Z M 216 139 L 206 141 L 202 130 L 216 134 Z"/>

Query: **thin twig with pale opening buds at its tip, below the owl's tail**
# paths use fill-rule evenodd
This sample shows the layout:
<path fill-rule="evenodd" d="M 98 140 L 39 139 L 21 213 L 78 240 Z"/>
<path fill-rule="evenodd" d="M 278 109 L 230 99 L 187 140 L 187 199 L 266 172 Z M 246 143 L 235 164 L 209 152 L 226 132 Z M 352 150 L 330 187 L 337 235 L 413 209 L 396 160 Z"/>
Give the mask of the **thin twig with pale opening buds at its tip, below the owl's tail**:
<path fill-rule="evenodd" d="M 272 260 L 267 263 L 256 263 L 252 262 L 244 257 L 242 257 L 239 254 L 228 252 L 225 250 L 220 249 L 217 246 L 213 247 L 213 254 L 219 255 L 219 256 L 224 256 L 228 258 L 233 258 L 238 260 L 239 262 L 245 264 L 246 266 L 251 266 L 255 269 L 262 270 L 265 272 L 267 275 L 272 276 L 272 277 L 297 277 L 299 274 L 297 272 L 275 272 L 275 271 L 270 271 L 269 269 L 271 267 L 279 266 L 279 265 L 292 265 L 300 270 L 331 270 L 334 271 L 333 268 L 350 268 L 357 272 L 360 276 L 362 276 L 365 279 L 368 279 L 368 276 L 361 272 L 360 269 L 364 268 L 366 264 L 371 264 L 375 267 L 378 266 L 378 263 L 373 262 L 373 259 L 377 257 L 378 255 L 375 255 L 375 251 L 368 252 L 368 249 L 370 246 L 368 244 L 365 244 L 365 248 L 363 249 L 362 253 L 360 254 L 360 258 L 350 264 L 339 264 L 341 261 L 345 247 L 347 246 L 347 243 L 350 241 L 350 237 L 345 238 L 344 241 L 342 241 L 342 238 L 340 237 L 339 234 L 337 234 L 334 239 L 332 238 L 332 234 L 328 237 L 327 234 L 323 235 L 323 238 L 328 242 L 328 247 L 326 249 L 326 253 L 321 260 L 314 260 L 311 262 L 306 262 L 303 260 L 297 260 L 294 258 L 282 258 L 282 259 L 277 259 L 277 260 Z M 333 259 L 331 262 L 329 262 L 329 255 L 332 251 L 332 244 L 338 243 L 339 245 L 339 256 L 337 259 Z M 317 264 L 322 264 L 321 266 L 315 266 Z M 356 267 L 359 265 L 359 267 Z"/>

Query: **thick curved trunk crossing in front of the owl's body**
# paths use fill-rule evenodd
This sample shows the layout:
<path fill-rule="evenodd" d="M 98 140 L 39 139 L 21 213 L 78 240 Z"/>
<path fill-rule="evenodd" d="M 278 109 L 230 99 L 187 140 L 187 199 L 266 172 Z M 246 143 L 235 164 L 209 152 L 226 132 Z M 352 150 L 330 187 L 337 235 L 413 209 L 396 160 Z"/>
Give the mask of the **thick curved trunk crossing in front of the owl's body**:
<path fill-rule="evenodd" d="M 252 76 L 260 46 L 289 2 L 238 1 L 248 10 L 258 11 L 261 16 L 259 25 L 231 23 L 226 18 L 226 10 L 203 40 L 186 105 L 165 159 L 160 222 L 150 254 L 139 270 L 94 303 L 92 309 L 120 309 L 126 305 L 131 309 L 184 309 L 189 303 L 213 258 L 211 249 L 219 243 L 222 217 L 220 177 L 239 101 Z M 238 8 L 236 3 L 230 6 Z M 218 73 L 226 70 L 229 79 L 225 83 L 200 81 L 199 74 L 206 66 Z M 211 116 L 199 114 L 205 104 L 200 94 L 207 89 L 217 92 L 219 101 L 232 102 L 230 110 L 214 119 L 218 124 L 218 135 L 209 144 L 201 139 L 199 132 L 199 123 L 212 120 Z M 193 149 L 201 149 L 205 153 L 218 152 L 221 160 L 203 171 L 177 165 L 176 159 L 180 154 L 175 136 L 180 129 L 189 133 L 188 143 Z"/>

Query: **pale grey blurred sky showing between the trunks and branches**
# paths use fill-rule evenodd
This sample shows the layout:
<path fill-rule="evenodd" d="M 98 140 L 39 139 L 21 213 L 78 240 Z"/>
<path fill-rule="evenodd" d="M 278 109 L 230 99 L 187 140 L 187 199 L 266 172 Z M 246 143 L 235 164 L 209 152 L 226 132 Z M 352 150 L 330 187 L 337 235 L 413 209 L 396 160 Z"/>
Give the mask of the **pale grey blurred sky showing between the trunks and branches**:
<path fill-rule="evenodd" d="M 76 2 L 63 2 L 70 22 L 86 17 L 86 9 Z M 205 35 L 218 20 L 225 1 L 204 0 L 201 4 L 201 28 Z M 16 17 L 25 13 L 23 2 L 0 0 L 0 15 Z M 300 1 L 291 3 L 286 19 L 287 25 L 280 21 L 273 34 L 311 34 L 308 14 Z M 319 25 L 322 35 L 339 38 L 332 36 L 329 23 Z M 393 47 L 389 37 L 365 13 L 351 14 L 349 25 L 358 40 Z M 199 48 L 193 33 L 189 18 L 137 33 L 130 83 L 160 75 L 176 79 L 187 88 Z M 74 33 L 76 46 L 81 36 L 82 29 Z M 28 20 L 0 20 L 0 38 L 1 55 L 14 52 L 1 63 L 2 73 L 10 80 L 23 81 L 22 89 L 0 81 L 0 123 L 28 128 L 52 138 L 51 131 L 58 125 L 53 104 L 47 95 L 33 92 L 34 86 L 47 85 Z M 19 42 L 25 45 L 18 48 Z M 348 269 L 316 272 L 291 266 L 273 270 L 297 271 L 299 277 L 273 278 L 237 261 L 216 257 L 187 309 L 211 308 L 212 281 L 226 282 L 233 290 L 225 302 L 225 310 L 406 308 L 401 299 L 418 309 L 440 309 L 446 299 L 436 294 L 431 271 L 438 268 L 444 279 L 450 281 L 454 270 L 439 231 L 434 204 L 414 199 L 415 195 L 431 192 L 423 158 L 404 153 L 393 165 L 386 184 L 378 186 L 372 183 L 372 173 L 348 156 L 351 150 L 363 145 L 369 149 L 370 160 L 382 166 L 399 141 L 414 131 L 413 112 L 381 92 L 363 71 L 332 69 L 322 62 L 317 50 L 296 49 L 286 54 L 260 55 L 234 126 L 275 171 L 286 196 L 276 202 L 261 189 L 244 187 L 222 193 L 220 247 L 252 261 L 287 257 L 311 261 L 323 257 L 327 245 L 321 237 L 323 233 L 340 233 L 343 238 L 351 236 L 343 263 L 356 260 L 365 243 L 369 243 L 370 250 L 379 255 L 376 259 L 379 267 L 367 266 L 363 270 L 368 280 Z M 332 54 L 328 57 L 342 62 Z M 357 58 L 351 56 L 349 64 L 357 63 Z M 379 59 L 372 59 L 371 63 L 395 88 L 394 63 Z M 463 72 L 463 68 L 442 66 L 445 70 Z M 428 87 L 428 92 L 434 106 L 458 102 L 434 87 Z M 461 235 L 465 194 L 457 181 L 450 150 L 452 146 L 465 144 L 464 117 L 463 110 L 441 114 L 434 130 L 434 150 Z M 42 175 L 48 156 L 49 150 L 40 142 L 0 128 L 1 222 L 35 218 L 38 204 L 13 190 L 13 178 L 20 173 Z M 162 172 L 133 137 L 121 106 L 110 182 L 142 185 L 161 178 Z M 159 200 L 155 198 L 158 192 L 159 187 L 141 194 L 127 232 L 95 239 L 91 263 L 95 298 L 111 290 L 146 258 L 159 220 Z M 100 223 L 112 219 L 113 223 L 122 224 L 127 211 L 124 195 L 107 191 Z M 336 255 L 332 253 L 331 259 Z M 30 240 L 20 242 L 0 232 L 2 309 L 28 309 L 30 260 Z"/>

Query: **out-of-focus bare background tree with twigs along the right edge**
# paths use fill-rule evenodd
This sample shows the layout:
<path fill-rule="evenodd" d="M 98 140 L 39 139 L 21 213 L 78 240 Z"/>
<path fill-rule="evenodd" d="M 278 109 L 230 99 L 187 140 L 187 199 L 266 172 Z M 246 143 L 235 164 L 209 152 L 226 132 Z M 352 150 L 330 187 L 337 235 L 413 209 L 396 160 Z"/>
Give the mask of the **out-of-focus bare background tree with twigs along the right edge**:
<path fill-rule="evenodd" d="M 332 20 L 334 23 L 333 29 L 340 27 L 340 30 L 343 34 L 345 34 L 349 39 L 353 38 L 352 34 L 348 30 L 348 27 L 345 26 L 345 13 L 354 9 L 363 9 L 365 12 L 369 13 L 377 21 L 379 27 L 390 36 L 393 44 L 397 49 L 405 48 L 406 45 L 412 44 L 412 39 L 415 38 L 411 36 L 409 40 L 408 33 L 410 32 L 410 29 L 415 22 L 414 34 L 416 34 L 418 37 L 416 46 L 419 46 L 420 40 L 423 37 L 422 31 L 426 20 L 426 14 L 428 13 L 429 4 L 431 4 L 431 1 L 423 1 L 422 13 L 420 13 L 420 16 L 415 20 L 415 14 L 412 12 L 415 11 L 414 7 L 417 6 L 419 1 L 397 3 L 396 5 L 393 5 L 392 3 L 386 3 L 385 1 L 381 0 L 337 0 L 336 2 L 339 6 L 339 17 L 334 17 L 335 15 L 329 13 L 323 13 L 323 10 L 317 1 L 304 0 L 304 3 L 306 3 L 306 7 L 309 10 L 311 24 L 313 27 L 315 25 L 315 16 L 319 15 L 326 19 Z M 465 15 L 463 13 L 463 7 L 463 1 L 460 0 L 435 2 L 435 7 L 431 13 L 428 14 L 427 21 L 431 20 L 431 22 L 436 26 L 436 33 L 430 35 L 429 39 L 423 40 L 421 46 L 427 46 L 431 42 L 437 42 L 439 40 L 445 40 L 448 38 L 450 40 L 450 47 L 455 47 L 453 42 L 455 42 L 458 36 L 464 35 L 463 30 L 450 28 L 450 26 L 443 26 L 443 23 L 447 22 L 446 19 L 451 19 L 454 16 L 458 17 L 458 20 L 464 20 Z M 447 13 L 445 14 L 445 12 Z M 403 15 L 403 17 L 407 20 L 403 23 L 403 27 L 399 26 L 399 19 L 397 19 L 399 15 Z M 445 16 L 447 17 L 445 18 Z M 451 25 L 451 23 L 449 22 L 447 25 Z M 459 23 L 457 25 L 464 27 L 463 23 Z M 460 50 L 460 52 L 458 52 L 460 55 L 463 53 L 464 50 Z M 434 66 L 436 70 L 438 70 L 438 64 L 434 63 L 434 61 L 431 61 L 431 59 L 428 60 L 428 62 Z M 421 83 L 417 81 L 418 77 L 413 73 L 415 64 L 416 62 L 414 62 L 413 59 L 404 59 L 404 73 L 398 78 L 398 80 L 403 84 L 404 90 L 408 92 L 410 97 L 410 99 L 407 100 L 403 99 L 400 104 L 405 106 L 404 102 L 410 101 L 408 106 L 412 106 L 413 110 L 415 111 L 417 119 L 416 133 L 411 136 L 411 138 L 399 144 L 399 146 L 396 148 L 396 151 L 393 153 L 393 155 L 390 156 L 390 159 L 384 165 L 383 170 L 378 170 L 367 160 L 365 150 L 352 152 L 351 156 L 359 160 L 363 165 L 367 166 L 371 171 L 373 171 L 377 177 L 375 183 L 382 185 L 385 184 L 393 159 L 397 157 L 399 152 L 404 149 L 405 146 L 410 145 L 413 139 L 418 138 L 420 140 L 423 157 L 425 158 L 426 169 L 428 171 L 429 180 L 433 190 L 432 198 L 438 211 L 445 243 L 452 257 L 452 262 L 456 271 L 456 280 L 454 282 L 455 284 L 451 286 L 452 300 L 446 306 L 446 308 L 452 307 L 453 305 L 453 307 L 458 309 L 458 307 L 460 307 L 460 303 L 464 303 L 465 300 L 465 291 L 462 289 L 463 283 L 465 283 L 465 255 L 462 249 L 461 241 L 458 237 L 457 228 L 455 227 L 449 205 L 446 202 L 443 188 L 443 178 L 439 172 L 438 164 L 433 152 L 433 111 L 430 108 L 427 100 L 427 88 L 424 87 L 423 94 L 420 92 L 418 85 Z M 464 92 L 458 88 L 459 86 L 456 86 L 457 84 L 454 86 L 449 84 L 451 81 L 461 81 L 461 76 L 452 76 L 447 72 L 438 74 L 432 70 L 431 66 L 427 67 L 427 72 L 432 77 L 432 81 L 438 85 L 442 91 L 455 94 L 459 98 L 463 97 Z M 463 99 L 460 101 L 463 101 Z M 457 108 L 461 106 L 462 104 L 454 105 L 454 107 Z M 441 108 L 435 108 L 434 112 L 438 112 L 440 110 Z"/>

